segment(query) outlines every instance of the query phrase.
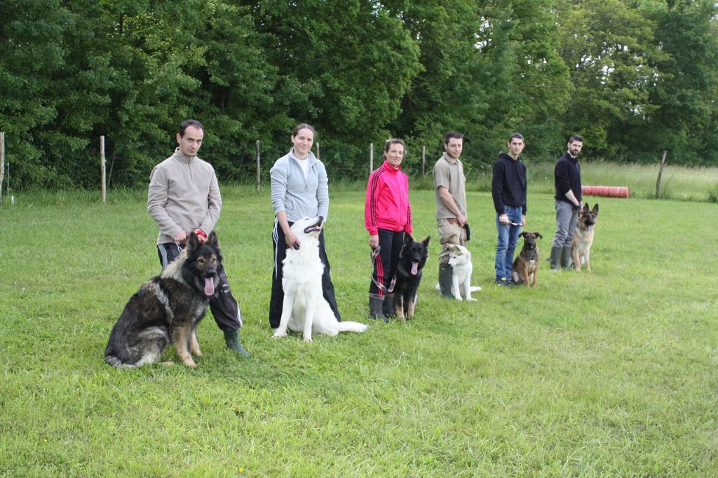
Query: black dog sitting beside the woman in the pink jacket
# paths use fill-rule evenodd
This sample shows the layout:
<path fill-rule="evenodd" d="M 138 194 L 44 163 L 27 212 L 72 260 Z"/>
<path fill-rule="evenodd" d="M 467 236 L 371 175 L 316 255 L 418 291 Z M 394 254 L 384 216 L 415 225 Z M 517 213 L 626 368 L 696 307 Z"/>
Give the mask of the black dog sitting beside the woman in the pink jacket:
<path fill-rule="evenodd" d="M 421 270 L 429 258 L 429 238 L 414 240 L 411 234 L 404 234 L 404 245 L 399 253 L 396 267 L 396 285 L 394 286 L 394 311 L 398 320 L 414 317 L 416 309 L 416 291 L 421 282 Z"/>

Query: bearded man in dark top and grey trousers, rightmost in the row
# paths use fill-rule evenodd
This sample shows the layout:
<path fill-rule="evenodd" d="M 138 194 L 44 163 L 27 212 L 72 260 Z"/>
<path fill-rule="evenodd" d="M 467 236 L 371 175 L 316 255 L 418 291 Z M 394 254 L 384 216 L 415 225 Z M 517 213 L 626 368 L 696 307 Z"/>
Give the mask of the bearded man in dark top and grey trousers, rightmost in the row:
<path fill-rule="evenodd" d="M 569 138 L 568 151 L 554 167 L 556 184 L 556 234 L 551 243 L 551 270 L 568 268 L 571 262 L 571 243 L 581 210 L 581 165 L 577 156 L 583 147 L 583 138 L 577 134 Z"/>

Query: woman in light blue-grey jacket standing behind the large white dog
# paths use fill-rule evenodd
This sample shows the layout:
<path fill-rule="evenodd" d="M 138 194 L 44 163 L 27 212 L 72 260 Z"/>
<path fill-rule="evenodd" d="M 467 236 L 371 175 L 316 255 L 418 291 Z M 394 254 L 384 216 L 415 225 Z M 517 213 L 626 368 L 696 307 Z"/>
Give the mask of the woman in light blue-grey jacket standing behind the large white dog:
<path fill-rule="evenodd" d="M 329 187 L 327 169 L 322 161 L 312 154 L 314 128 L 301 123 L 294 128 L 292 144 L 288 154 L 277 159 L 270 171 L 271 202 L 274 207 L 274 273 L 271 281 L 271 299 L 269 300 L 269 325 L 279 327 L 281 310 L 284 303 L 284 290 L 281 286 L 282 261 L 286 249 L 299 246 L 297 235 L 290 229 L 294 221 L 302 217 L 322 216 L 327 220 L 329 213 Z M 341 321 L 334 285 L 330 275 L 329 260 L 324 245 L 324 230 L 319 236 L 319 256 L 324 263 L 322 289 L 337 320 Z"/>

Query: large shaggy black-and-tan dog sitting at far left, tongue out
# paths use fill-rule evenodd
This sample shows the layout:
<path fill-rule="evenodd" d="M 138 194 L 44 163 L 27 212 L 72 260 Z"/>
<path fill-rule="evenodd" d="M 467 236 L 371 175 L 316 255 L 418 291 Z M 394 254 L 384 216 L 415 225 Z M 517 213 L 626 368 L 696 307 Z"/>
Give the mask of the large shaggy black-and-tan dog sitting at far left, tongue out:
<path fill-rule="evenodd" d="M 118 368 L 157 362 L 172 342 L 180 360 L 196 367 L 192 355 L 202 355 L 197 324 L 205 317 L 220 271 L 217 234 L 212 231 L 202 244 L 192 233 L 177 259 L 131 297 L 112 328 L 105 362 Z"/>

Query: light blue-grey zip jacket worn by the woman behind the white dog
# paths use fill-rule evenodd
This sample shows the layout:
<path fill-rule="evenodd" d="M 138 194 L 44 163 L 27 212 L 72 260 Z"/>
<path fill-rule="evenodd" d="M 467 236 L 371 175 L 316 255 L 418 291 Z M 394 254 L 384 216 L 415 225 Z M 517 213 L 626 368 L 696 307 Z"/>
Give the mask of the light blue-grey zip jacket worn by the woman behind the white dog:
<path fill-rule="evenodd" d="M 294 149 L 281 156 L 274 163 L 271 177 L 271 204 L 274 215 L 286 212 L 286 220 L 296 222 L 302 217 L 322 216 L 327 220 L 329 214 L 329 185 L 327 169 L 322 161 L 311 151 L 305 161 L 309 161 L 307 178 L 294 156 Z"/>

